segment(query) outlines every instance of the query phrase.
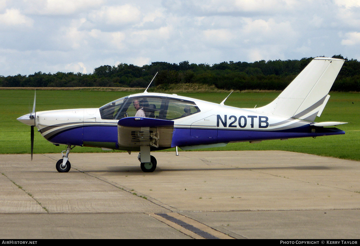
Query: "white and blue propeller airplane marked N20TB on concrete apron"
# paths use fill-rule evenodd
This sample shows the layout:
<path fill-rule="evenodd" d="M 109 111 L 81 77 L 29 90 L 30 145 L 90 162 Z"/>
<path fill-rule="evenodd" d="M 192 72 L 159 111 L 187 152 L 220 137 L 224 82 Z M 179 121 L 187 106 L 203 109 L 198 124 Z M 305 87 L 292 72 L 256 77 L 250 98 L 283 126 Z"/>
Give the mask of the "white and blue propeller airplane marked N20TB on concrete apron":
<path fill-rule="evenodd" d="M 55 145 L 66 145 L 56 168 L 68 172 L 69 152 L 75 146 L 105 150 L 139 151 L 143 172 L 153 172 L 157 161 L 150 151 L 225 146 L 229 142 L 318 137 L 345 134 L 329 127 L 345 122 L 314 122 L 329 100 L 329 90 L 344 60 L 319 57 L 270 104 L 260 108 L 235 108 L 178 96 L 150 93 L 122 97 L 100 108 L 35 112 L 18 120 Z M 151 83 L 151 82 L 150 82 Z M 66 152 L 64 154 L 64 152 Z"/>

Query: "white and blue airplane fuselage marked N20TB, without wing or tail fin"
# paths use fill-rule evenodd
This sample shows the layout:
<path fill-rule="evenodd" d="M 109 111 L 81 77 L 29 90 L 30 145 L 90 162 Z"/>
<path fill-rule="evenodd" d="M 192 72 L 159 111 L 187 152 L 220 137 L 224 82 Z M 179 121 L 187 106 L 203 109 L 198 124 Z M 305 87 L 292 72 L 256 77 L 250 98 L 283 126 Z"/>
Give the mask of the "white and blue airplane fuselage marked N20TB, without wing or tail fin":
<path fill-rule="evenodd" d="M 100 108 L 39 111 L 27 123 L 21 120 L 26 115 L 19 120 L 35 125 L 53 144 L 122 150 L 118 146 L 117 123 L 125 117 L 136 117 L 134 105 L 137 102 L 145 117 L 174 121 L 171 145 L 152 147 L 152 150 L 345 133 L 337 128 L 315 127 L 306 120 L 266 114 L 256 109 L 159 93 L 130 95 Z"/>

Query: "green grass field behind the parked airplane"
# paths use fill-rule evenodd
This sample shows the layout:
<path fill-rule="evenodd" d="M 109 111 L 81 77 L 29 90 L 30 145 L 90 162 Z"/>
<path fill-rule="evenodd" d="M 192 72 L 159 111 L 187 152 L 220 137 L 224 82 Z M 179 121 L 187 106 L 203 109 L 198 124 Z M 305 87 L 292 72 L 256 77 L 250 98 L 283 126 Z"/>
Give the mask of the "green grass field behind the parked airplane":
<path fill-rule="evenodd" d="M 134 94 L 135 92 L 132 92 Z M 115 91 L 36 91 L 36 111 L 70 108 L 98 108 L 109 101 L 131 94 Z M 180 94 L 220 103 L 227 93 Z M 274 100 L 277 93 L 233 93 L 226 105 L 254 108 Z M 30 127 L 16 120 L 32 110 L 34 92 L 31 90 L 0 90 L 0 154 L 30 152 Z M 285 150 L 360 161 L 360 94 L 330 93 L 330 100 L 317 122 L 341 121 L 338 126 L 345 135 L 298 138 L 286 141 L 271 140 L 258 144 L 234 143 L 226 147 L 204 150 Z M 60 153 L 64 146 L 55 146 L 35 131 L 34 153 Z M 76 147 L 72 152 L 102 152 L 101 149 Z"/>

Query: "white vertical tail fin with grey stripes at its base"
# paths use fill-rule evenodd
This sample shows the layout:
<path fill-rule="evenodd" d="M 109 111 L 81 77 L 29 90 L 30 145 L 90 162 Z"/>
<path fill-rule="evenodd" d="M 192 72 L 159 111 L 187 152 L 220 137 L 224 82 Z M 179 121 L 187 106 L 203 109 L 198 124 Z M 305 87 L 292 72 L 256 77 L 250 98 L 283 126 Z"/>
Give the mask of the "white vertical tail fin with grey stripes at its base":
<path fill-rule="evenodd" d="M 341 59 L 315 58 L 273 102 L 256 111 L 314 121 L 328 102 L 343 63 Z"/>

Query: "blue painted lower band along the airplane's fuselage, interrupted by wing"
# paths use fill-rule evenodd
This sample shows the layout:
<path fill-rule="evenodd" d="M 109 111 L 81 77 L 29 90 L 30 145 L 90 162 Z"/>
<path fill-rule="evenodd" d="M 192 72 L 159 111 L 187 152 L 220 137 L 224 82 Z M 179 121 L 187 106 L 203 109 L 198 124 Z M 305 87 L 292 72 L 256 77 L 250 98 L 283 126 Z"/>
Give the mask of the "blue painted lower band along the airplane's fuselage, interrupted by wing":
<path fill-rule="evenodd" d="M 191 128 L 190 133 L 190 128 L 175 127 L 172 143 L 169 147 L 345 134 L 345 132 L 337 128 L 323 129 L 323 132 L 316 131 L 314 133 L 311 132 L 310 126 L 281 131 Z M 71 144 L 78 146 L 81 146 L 83 142 L 113 142 L 117 144 L 117 126 L 84 126 L 67 129 L 52 136 L 49 138 L 49 141 L 55 144 Z"/>

